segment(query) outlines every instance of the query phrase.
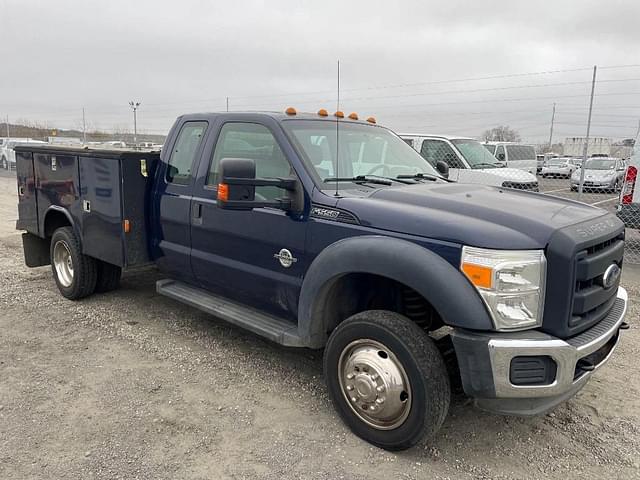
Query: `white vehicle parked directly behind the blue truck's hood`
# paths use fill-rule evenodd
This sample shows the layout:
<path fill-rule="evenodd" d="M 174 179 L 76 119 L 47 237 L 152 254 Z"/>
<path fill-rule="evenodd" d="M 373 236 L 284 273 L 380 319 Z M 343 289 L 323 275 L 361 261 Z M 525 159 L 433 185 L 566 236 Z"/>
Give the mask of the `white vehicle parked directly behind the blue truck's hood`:
<path fill-rule="evenodd" d="M 435 167 L 438 161 L 449 166 L 449 178 L 463 183 L 538 191 L 538 180 L 529 172 L 505 168 L 480 142 L 450 135 L 401 134 L 405 142 Z"/>

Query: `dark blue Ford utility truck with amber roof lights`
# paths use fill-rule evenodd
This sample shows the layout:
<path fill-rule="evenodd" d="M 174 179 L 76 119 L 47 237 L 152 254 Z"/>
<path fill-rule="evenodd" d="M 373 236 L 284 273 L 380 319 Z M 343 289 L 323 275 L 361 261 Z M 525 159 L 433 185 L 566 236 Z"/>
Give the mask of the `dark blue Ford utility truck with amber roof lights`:
<path fill-rule="evenodd" d="M 65 297 L 154 262 L 160 294 L 276 343 L 324 348 L 359 436 L 434 435 L 451 385 L 542 413 L 612 355 L 624 226 L 598 208 L 447 180 L 373 118 L 184 115 L 162 153 L 22 146 L 28 266 Z"/>

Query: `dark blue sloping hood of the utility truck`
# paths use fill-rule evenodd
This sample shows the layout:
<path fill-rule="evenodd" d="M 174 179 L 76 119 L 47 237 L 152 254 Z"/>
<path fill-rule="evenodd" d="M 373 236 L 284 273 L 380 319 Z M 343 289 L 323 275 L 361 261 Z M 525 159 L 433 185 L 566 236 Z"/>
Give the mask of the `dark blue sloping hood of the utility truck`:
<path fill-rule="evenodd" d="M 381 188 L 341 198 L 337 207 L 369 227 L 509 250 L 545 248 L 558 229 L 610 215 L 571 200 L 462 183 Z"/>

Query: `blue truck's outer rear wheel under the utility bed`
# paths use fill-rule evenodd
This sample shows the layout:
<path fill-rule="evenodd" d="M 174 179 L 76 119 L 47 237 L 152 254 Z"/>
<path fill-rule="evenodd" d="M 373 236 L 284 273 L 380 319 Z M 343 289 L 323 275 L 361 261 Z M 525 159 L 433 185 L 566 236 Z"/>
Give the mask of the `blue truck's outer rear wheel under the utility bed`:
<path fill-rule="evenodd" d="M 73 229 L 58 228 L 49 248 L 53 278 L 62 296 L 78 300 L 91 295 L 96 288 L 96 260 L 82 253 Z"/>

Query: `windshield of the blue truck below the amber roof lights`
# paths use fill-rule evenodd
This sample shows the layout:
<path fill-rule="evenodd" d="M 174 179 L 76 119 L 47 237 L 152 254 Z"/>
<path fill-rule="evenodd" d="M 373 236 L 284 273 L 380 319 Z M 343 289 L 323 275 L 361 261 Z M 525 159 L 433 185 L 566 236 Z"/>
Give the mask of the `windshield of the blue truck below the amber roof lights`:
<path fill-rule="evenodd" d="M 287 120 L 283 125 L 293 134 L 321 181 L 358 175 L 396 178 L 426 173 L 440 176 L 418 152 L 386 128 L 341 121 L 336 149 L 336 122 Z M 336 150 L 339 151 L 338 168 Z"/>

